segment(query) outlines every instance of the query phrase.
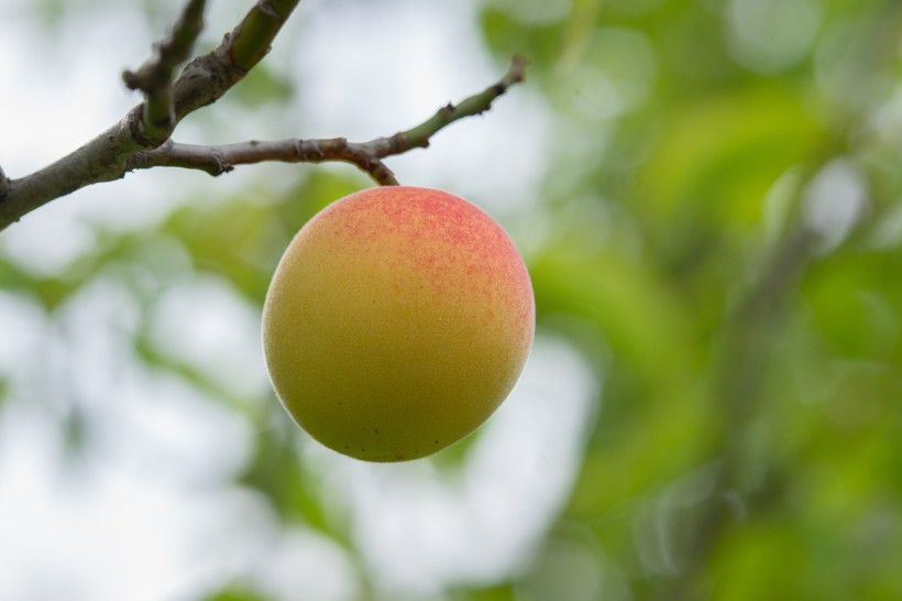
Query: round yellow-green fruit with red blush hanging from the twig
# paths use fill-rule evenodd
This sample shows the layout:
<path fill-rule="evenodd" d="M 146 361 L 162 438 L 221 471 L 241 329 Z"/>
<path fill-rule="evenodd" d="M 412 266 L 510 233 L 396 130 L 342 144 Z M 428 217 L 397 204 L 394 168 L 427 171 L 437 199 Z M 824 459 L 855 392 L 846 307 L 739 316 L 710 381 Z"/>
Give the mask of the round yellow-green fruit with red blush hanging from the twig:
<path fill-rule="evenodd" d="M 292 241 L 263 310 L 276 393 L 314 438 L 370 461 L 460 440 L 501 405 L 535 331 L 504 230 L 446 192 L 385 186 L 333 203 Z"/>

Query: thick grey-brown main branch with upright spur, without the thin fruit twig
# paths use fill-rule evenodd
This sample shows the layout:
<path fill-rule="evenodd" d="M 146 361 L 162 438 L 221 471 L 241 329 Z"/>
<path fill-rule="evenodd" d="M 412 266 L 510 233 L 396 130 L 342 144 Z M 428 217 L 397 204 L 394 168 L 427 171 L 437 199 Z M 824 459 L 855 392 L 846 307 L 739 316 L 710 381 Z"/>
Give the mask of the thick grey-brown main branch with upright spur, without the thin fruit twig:
<path fill-rule="evenodd" d="M 178 156 L 160 154 L 155 150 L 170 139 L 174 128 L 185 116 L 218 100 L 263 58 L 298 0 L 263 0 L 262 6 L 255 2 L 231 35 L 227 35 L 215 51 L 188 62 L 173 81 L 175 69 L 191 55 L 204 26 L 205 1 L 182 1 L 186 8 L 170 35 L 179 52 L 164 51 L 165 43 L 155 45 L 154 56 L 145 65 L 122 75 L 130 89 L 144 92 L 144 101 L 107 131 L 46 167 L 8 183 L 0 179 L 0 190 L 4 195 L 0 204 L 0 230 L 56 198 L 85 186 L 119 179 L 135 168 L 170 165 L 206 171 L 199 166 L 202 157 L 193 156 L 191 164 L 182 165 Z M 157 85 L 148 72 L 163 73 L 163 84 L 160 85 L 165 92 L 148 94 L 143 89 L 144 85 L 152 89 Z M 174 118 L 163 119 L 165 116 Z M 224 157 L 229 159 L 227 170 L 248 162 L 238 161 L 229 153 Z M 210 164 L 209 160 L 207 164 Z"/>

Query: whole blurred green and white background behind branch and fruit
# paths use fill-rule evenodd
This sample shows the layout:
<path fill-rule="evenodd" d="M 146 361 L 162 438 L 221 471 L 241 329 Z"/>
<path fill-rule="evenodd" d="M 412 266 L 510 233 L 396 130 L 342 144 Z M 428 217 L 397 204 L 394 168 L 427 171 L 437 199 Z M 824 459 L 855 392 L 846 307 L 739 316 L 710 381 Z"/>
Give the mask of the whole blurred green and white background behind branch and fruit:
<path fill-rule="evenodd" d="M 201 51 L 249 1 L 210 2 Z M 3 0 L 0 164 L 72 151 L 176 0 Z M 538 338 L 491 422 L 367 465 L 264 370 L 344 165 L 154 170 L 0 233 L 0 599 L 902 599 L 902 3 L 305 0 L 183 142 L 369 140 L 496 217 Z"/>

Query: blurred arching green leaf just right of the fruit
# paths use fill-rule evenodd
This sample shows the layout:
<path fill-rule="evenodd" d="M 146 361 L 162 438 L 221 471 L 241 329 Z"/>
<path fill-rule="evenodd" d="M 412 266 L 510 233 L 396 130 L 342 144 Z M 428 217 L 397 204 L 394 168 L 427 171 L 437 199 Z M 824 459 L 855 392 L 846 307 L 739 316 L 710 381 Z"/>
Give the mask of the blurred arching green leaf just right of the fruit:
<path fill-rule="evenodd" d="M 716 428 L 692 314 L 641 260 L 546 249 L 530 263 L 540 324 L 579 316 L 605 341 L 604 411 L 573 510 L 607 511 L 703 460 Z M 566 334 L 566 328 L 562 331 Z"/>

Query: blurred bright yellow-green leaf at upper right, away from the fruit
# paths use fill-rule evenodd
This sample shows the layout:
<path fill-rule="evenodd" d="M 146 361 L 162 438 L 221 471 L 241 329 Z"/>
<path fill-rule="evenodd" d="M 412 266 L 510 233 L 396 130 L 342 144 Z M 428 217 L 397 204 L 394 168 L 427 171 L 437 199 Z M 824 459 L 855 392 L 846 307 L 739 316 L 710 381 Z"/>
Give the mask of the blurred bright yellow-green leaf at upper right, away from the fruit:
<path fill-rule="evenodd" d="M 657 236 L 741 240 L 758 228 L 767 190 L 824 140 L 805 91 L 749 85 L 667 110 L 634 194 Z"/>

